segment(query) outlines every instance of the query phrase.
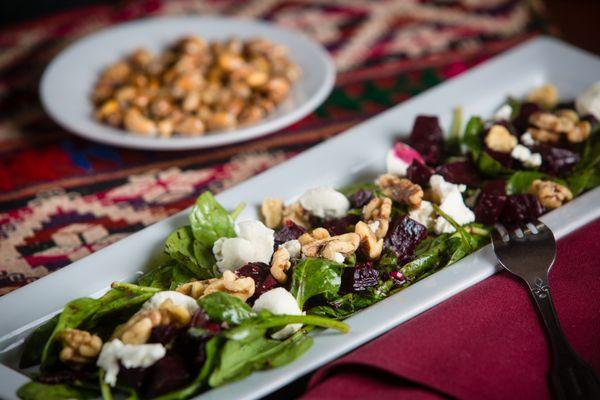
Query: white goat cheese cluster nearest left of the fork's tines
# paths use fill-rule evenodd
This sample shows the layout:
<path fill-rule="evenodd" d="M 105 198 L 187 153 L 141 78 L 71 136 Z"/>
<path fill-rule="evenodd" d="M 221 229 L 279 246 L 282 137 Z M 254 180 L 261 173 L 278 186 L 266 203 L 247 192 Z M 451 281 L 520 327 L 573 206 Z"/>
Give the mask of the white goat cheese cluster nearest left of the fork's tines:
<path fill-rule="evenodd" d="M 462 192 L 466 190 L 465 185 L 456 185 L 446 182 L 441 175 L 432 175 L 429 179 L 431 190 L 440 201 L 440 209 L 454 219 L 458 224 L 464 225 L 475 221 L 475 214 L 464 203 Z M 453 233 L 454 227 L 444 219 L 437 217 L 433 227 L 437 234 Z"/>

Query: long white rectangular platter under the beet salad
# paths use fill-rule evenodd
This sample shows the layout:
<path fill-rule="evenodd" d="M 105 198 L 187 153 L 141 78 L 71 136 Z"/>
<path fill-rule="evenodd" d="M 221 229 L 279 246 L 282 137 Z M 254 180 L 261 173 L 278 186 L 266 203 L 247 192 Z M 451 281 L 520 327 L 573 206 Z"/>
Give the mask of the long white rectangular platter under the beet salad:
<path fill-rule="evenodd" d="M 396 106 L 327 142 L 221 193 L 218 200 L 233 208 L 249 206 L 240 219 L 257 218 L 263 197 L 293 199 L 319 186 L 342 186 L 375 177 L 384 169 L 385 153 L 394 139 L 410 132 L 418 114 L 440 116 L 449 127 L 452 109 L 463 115 L 491 113 L 506 95 L 522 96 L 544 82 L 555 84 L 561 97 L 576 96 L 600 80 L 600 59 L 551 38 L 529 41 L 464 75 Z M 29 378 L 18 371 L 23 338 L 65 303 L 82 296 L 98 296 L 115 280 L 134 280 L 161 253 L 164 239 L 186 223 L 188 210 L 156 223 L 72 265 L 0 298 L 0 398 L 15 398 Z M 600 217 L 600 189 L 545 215 L 542 220 L 560 238 Z M 315 332 L 314 346 L 282 368 L 254 373 L 248 378 L 207 392 L 200 398 L 254 399 L 341 356 L 396 325 L 497 271 L 492 249 L 475 254 L 417 282 L 400 293 L 352 316 L 351 331 Z"/>

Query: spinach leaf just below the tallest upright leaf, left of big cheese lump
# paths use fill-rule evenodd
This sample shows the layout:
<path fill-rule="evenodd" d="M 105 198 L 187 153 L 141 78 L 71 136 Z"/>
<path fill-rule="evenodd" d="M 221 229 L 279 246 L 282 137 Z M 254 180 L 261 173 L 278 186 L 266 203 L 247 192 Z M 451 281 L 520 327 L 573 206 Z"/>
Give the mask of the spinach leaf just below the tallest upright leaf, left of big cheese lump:
<path fill-rule="evenodd" d="M 210 248 L 195 240 L 189 225 L 176 229 L 167 237 L 165 253 L 186 267 L 198 279 L 209 279 L 216 276 L 215 261 Z"/>

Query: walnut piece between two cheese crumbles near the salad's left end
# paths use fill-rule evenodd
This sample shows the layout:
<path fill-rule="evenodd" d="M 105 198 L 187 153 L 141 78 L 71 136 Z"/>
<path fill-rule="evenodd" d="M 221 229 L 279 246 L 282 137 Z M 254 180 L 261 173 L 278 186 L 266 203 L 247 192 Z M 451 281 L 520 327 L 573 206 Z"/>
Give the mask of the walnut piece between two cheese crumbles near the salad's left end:
<path fill-rule="evenodd" d="M 191 318 L 187 308 L 175 305 L 171 299 L 167 299 L 156 309 L 134 314 L 115 329 L 111 339 L 120 339 L 125 344 L 143 344 L 150 338 L 152 328 L 171 324 L 184 326 Z"/>

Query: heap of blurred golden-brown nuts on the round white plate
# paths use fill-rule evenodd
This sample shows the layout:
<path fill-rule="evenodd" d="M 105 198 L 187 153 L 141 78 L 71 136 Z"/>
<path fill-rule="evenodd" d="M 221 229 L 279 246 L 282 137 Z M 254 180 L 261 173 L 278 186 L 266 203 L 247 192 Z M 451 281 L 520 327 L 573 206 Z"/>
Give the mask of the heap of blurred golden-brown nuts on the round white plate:
<path fill-rule="evenodd" d="M 95 117 L 169 138 L 255 124 L 285 101 L 300 69 L 269 40 L 184 37 L 158 55 L 138 49 L 108 66 L 92 93 Z"/>

